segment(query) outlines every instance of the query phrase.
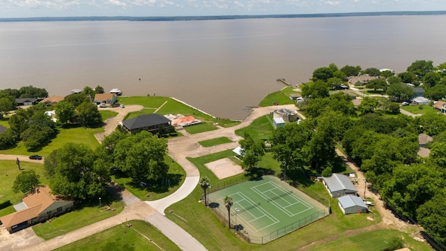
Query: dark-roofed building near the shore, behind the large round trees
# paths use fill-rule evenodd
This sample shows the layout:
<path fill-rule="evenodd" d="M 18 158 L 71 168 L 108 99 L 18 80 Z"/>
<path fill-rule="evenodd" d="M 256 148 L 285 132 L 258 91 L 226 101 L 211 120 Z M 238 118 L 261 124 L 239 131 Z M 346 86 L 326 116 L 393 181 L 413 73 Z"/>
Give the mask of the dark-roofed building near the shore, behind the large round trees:
<path fill-rule="evenodd" d="M 160 128 L 168 128 L 171 126 L 171 121 L 160 114 L 145 114 L 122 121 L 120 124 L 128 132 L 141 132 L 142 130 L 146 130 L 155 134 Z"/>

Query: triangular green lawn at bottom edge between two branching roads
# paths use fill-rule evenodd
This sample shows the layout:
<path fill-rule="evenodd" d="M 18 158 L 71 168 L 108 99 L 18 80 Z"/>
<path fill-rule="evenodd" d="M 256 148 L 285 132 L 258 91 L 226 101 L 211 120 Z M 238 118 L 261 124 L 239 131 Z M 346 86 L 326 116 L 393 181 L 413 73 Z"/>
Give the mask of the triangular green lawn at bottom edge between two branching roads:
<path fill-rule="evenodd" d="M 130 228 L 125 222 L 56 250 L 180 250 L 175 243 L 147 222 L 129 222 L 132 224 Z"/>

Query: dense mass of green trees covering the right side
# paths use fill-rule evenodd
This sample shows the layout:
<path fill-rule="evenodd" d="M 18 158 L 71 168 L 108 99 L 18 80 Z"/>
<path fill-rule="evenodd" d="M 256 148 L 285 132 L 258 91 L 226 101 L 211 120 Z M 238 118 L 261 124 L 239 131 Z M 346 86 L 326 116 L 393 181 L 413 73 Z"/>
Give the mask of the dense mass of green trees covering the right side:
<path fill-rule="evenodd" d="M 300 169 L 328 176 L 341 170 L 334 151 L 340 144 L 364 172 L 367 183 L 385 201 L 399 213 L 417 220 L 438 241 L 446 243 L 446 116 L 435 111 L 415 118 L 398 114 L 399 104 L 393 102 L 393 96 L 365 97 L 355 107 L 348 94 L 329 94 L 333 77 L 341 84 L 349 75 L 365 72 L 379 74 L 387 86 L 392 86 L 388 79 L 412 73 L 416 76 L 410 80 L 412 84 L 424 82 L 426 86 L 429 79 L 426 76 L 434 73 L 440 78 L 433 86 L 443 85 L 446 77 L 441 68 L 445 66 L 443 63 L 433 68 L 431 61 L 416 61 L 406 73 L 397 76 L 383 76 L 373 69 L 362 71 L 359 66 L 339 69 L 333 63 L 316 69 L 314 81 L 302 86 L 305 102 L 299 106 L 307 119 L 277 128 L 272 134 L 275 159 L 281 162 L 283 172 L 290 178 Z M 395 83 L 408 86 L 402 79 Z M 426 158 L 417 155 L 418 135 L 422 133 L 433 137 L 427 146 L 430 155 Z"/>

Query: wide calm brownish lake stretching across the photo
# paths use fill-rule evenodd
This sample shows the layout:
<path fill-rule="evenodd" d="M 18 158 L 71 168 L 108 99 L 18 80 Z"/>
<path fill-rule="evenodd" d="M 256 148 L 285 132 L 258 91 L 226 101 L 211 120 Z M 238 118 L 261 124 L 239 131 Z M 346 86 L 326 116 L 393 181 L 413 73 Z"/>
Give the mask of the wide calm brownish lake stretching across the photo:
<path fill-rule="evenodd" d="M 0 22 L 0 89 L 33 85 L 66 96 L 100 85 L 245 119 L 284 87 L 277 78 L 307 82 L 329 63 L 397 73 L 416 60 L 443 63 L 445 30 L 446 15 Z"/>

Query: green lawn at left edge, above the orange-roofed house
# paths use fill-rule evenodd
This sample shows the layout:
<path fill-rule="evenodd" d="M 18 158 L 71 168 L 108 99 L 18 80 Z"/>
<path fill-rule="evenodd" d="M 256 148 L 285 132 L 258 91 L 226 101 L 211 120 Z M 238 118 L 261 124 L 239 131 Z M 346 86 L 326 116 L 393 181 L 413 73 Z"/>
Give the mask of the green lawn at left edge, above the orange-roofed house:
<path fill-rule="evenodd" d="M 48 183 L 42 164 L 22 160 L 20 161 L 20 168 L 22 171 L 19 170 L 15 161 L 0 160 L 0 216 L 14 213 L 13 205 L 22 202 L 24 193 L 16 194 L 13 192 L 15 178 L 20 172 L 34 170 L 36 174 L 40 175 L 40 184 Z"/>

